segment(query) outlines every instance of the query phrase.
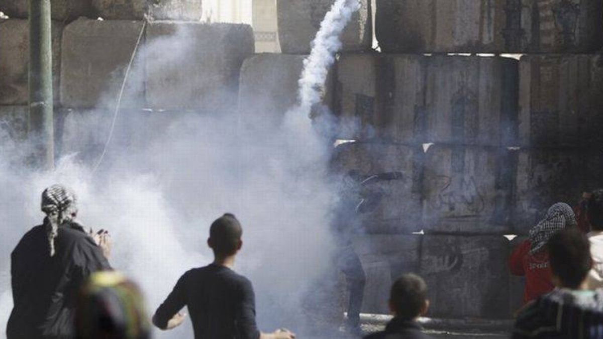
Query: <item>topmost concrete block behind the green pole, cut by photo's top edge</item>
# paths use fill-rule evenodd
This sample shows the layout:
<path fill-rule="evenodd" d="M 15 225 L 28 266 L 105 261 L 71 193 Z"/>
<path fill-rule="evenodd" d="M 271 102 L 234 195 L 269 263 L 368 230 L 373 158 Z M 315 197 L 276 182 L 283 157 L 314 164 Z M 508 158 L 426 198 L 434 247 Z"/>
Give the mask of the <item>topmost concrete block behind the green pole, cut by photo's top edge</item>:
<path fill-rule="evenodd" d="M 92 16 L 90 0 L 51 0 L 51 18 L 60 22 L 68 22 L 80 16 Z M 0 11 L 8 17 L 27 19 L 29 17 L 28 0 L 0 0 Z"/>

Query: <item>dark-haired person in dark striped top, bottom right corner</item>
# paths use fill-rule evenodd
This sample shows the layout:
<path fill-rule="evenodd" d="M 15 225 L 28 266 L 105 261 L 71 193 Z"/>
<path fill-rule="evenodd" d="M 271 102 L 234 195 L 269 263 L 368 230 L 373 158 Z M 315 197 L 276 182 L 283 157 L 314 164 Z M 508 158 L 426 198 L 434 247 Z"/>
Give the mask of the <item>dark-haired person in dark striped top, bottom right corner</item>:
<path fill-rule="evenodd" d="M 590 291 L 590 243 L 577 228 L 564 229 L 549 240 L 555 288 L 529 303 L 517 317 L 513 339 L 603 338 L 603 290 Z"/>

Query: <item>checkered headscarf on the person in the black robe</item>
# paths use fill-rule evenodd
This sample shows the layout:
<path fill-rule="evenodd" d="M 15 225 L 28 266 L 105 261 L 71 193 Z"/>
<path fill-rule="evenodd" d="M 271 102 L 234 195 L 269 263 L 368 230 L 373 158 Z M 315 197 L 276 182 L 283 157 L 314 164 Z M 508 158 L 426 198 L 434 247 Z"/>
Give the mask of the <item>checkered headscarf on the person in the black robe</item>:
<path fill-rule="evenodd" d="M 58 227 L 73 221 L 77 214 L 77 197 L 63 185 L 52 185 L 42 192 L 42 211 L 46 214 L 44 226 L 48 235 L 50 256 L 54 256 L 54 239 Z"/>

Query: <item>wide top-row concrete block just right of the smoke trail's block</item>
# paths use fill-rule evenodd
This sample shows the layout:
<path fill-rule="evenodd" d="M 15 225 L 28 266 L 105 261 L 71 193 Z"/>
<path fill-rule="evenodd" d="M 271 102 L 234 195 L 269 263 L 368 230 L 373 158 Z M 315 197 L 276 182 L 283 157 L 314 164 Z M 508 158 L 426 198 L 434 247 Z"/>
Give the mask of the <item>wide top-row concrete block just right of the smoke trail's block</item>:
<path fill-rule="evenodd" d="M 504 0 L 377 0 L 384 52 L 499 51 Z"/>

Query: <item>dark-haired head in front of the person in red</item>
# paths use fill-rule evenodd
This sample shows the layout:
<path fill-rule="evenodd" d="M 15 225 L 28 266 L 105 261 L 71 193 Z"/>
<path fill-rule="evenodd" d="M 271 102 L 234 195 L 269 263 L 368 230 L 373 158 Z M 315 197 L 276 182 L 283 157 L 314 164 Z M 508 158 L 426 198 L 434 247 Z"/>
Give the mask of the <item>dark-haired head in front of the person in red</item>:
<path fill-rule="evenodd" d="M 548 250 L 554 284 L 578 289 L 592 267 L 586 235 L 575 228 L 561 230 L 549 239 Z"/>

